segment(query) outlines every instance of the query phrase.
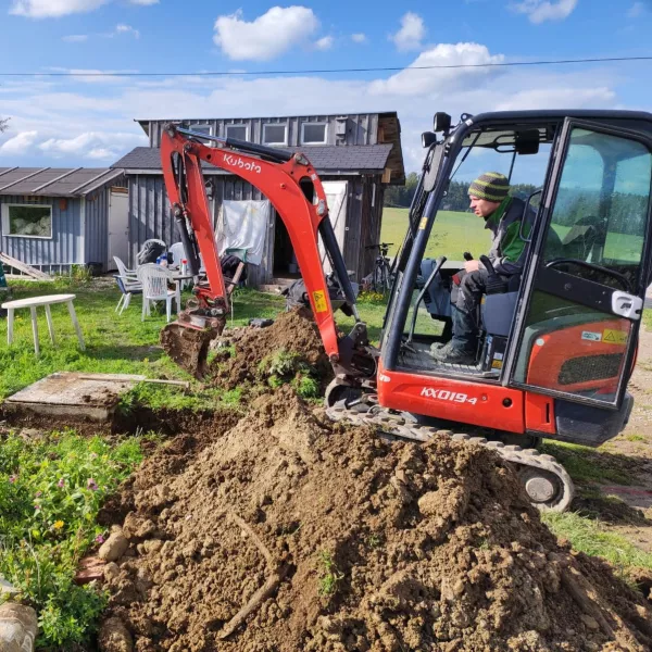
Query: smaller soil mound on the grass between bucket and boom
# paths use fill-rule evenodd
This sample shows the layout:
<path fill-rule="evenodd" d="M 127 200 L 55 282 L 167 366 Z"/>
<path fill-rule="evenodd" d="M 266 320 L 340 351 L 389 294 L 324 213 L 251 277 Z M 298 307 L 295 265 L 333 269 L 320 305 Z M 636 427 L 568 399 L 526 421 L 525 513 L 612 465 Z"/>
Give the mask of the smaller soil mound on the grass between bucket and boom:
<path fill-rule="evenodd" d="M 281 313 L 266 328 L 248 326 L 227 330 L 216 346 L 217 355 L 209 374 L 215 385 L 225 389 L 260 380 L 260 363 L 279 351 L 297 355 L 297 362 L 313 367 L 324 383 L 333 377 L 317 326 L 311 311 L 304 308 Z M 228 349 L 235 349 L 236 354 Z"/>

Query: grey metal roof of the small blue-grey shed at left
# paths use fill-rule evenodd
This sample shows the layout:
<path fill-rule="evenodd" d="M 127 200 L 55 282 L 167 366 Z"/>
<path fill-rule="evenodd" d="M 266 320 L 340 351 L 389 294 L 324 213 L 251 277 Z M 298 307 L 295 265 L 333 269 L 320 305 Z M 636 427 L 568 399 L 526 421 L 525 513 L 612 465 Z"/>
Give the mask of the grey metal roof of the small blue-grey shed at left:
<path fill-rule="evenodd" d="M 85 197 L 122 174 L 111 167 L 0 167 L 0 195 Z"/>

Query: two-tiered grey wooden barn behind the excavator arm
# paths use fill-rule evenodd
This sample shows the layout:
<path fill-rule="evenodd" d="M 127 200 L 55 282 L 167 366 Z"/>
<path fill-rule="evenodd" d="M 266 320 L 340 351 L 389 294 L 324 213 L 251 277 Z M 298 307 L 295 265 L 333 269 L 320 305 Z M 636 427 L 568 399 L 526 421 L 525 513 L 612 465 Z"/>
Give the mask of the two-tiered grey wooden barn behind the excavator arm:
<path fill-rule="evenodd" d="M 138 122 L 149 136 L 150 146 L 134 149 L 112 166 L 124 170 L 129 188 L 128 264 L 134 264 L 137 252 L 149 238 L 160 238 L 168 244 L 179 240 L 165 192 L 159 143 L 163 125 L 180 122 L 209 135 L 303 151 L 324 181 L 347 268 L 355 280 L 373 269 L 377 251 L 366 247 L 379 241 L 385 188 L 405 181 L 396 112 Z M 204 178 L 216 227 L 224 201 L 256 202 L 259 212 L 263 206 L 267 223 L 264 249 L 261 263 L 248 269 L 249 284 L 283 284 L 298 276 L 287 230 L 261 192 L 210 165 Z"/>

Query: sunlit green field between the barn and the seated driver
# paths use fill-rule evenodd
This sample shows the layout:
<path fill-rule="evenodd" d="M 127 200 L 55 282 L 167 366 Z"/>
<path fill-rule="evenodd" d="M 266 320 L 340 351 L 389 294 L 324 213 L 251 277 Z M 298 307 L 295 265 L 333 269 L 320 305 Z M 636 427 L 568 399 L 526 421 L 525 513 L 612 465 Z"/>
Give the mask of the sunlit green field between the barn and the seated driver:
<path fill-rule="evenodd" d="M 383 210 L 381 242 L 393 242 L 389 253 L 397 253 L 408 231 L 408 209 Z M 471 251 L 474 258 L 489 251 L 491 234 L 485 230 L 485 224 L 473 213 L 439 211 L 437 221 L 426 248 L 426 256 L 446 255 L 451 261 L 463 260 L 463 253 Z"/>

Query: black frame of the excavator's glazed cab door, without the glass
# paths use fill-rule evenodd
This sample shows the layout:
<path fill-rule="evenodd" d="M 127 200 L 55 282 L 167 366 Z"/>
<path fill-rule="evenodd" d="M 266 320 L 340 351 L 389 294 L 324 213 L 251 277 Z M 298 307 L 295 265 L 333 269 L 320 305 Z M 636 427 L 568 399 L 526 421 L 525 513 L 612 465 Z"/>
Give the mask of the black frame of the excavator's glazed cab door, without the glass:
<path fill-rule="evenodd" d="M 544 269 L 544 267 L 542 267 L 544 263 L 542 255 L 543 248 L 547 242 L 549 229 L 551 228 L 551 221 L 560 191 L 562 174 L 568 156 L 568 150 L 570 147 L 570 134 L 575 128 L 587 129 L 599 134 L 605 134 L 618 138 L 638 141 L 641 145 L 645 146 L 652 155 L 652 138 L 650 137 L 650 135 L 645 135 L 644 133 L 636 131 L 630 128 L 618 127 L 614 125 L 614 122 L 609 118 L 605 118 L 604 121 L 588 121 L 581 118 L 566 117 L 564 120 L 561 135 L 556 140 L 556 147 L 552 153 L 551 167 L 549 168 L 551 170 L 551 173 L 548 175 L 547 183 L 543 189 L 543 201 L 541 202 L 541 208 L 537 220 L 538 224 L 535 227 L 535 233 L 532 233 L 531 235 L 532 241 L 530 246 L 530 253 L 528 261 L 526 262 L 522 285 L 521 302 L 517 309 L 516 318 L 512 326 L 510 344 L 505 355 L 502 385 L 505 387 L 523 389 L 537 394 L 560 398 L 565 401 L 582 403 L 588 405 L 597 405 L 605 410 L 619 410 L 627 388 L 627 381 L 629 379 L 629 375 L 634 366 L 636 349 L 638 343 L 638 333 L 642 317 L 642 308 L 641 311 L 639 311 L 638 315 L 635 314 L 626 317 L 629 318 L 629 321 L 631 322 L 631 327 L 629 338 L 626 344 L 627 350 L 625 352 L 624 364 L 620 367 L 620 376 L 618 378 L 618 388 L 616 391 L 616 400 L 614 403 L 607 403 L 590 397 L 578 396 L 555 389 L 532 386 L 528 385 L 527 383 L 517 381 L 514 379 L 516 363 L 518 354 L 521 352 L 521 347 L 523 343 L 526 328 L 526 317 L 529 314 L 529 309 L 531 305 L 535 290 L 537 288 L 542 289 L 546 292 L 550 292 L 552 290 L 552 292 L 556 296 L 564 296 L 562 292 L 555 289 L 554 284 L 550 284 L 550 278 L 546 279 L 546 276 L 550 276 L 550 269 L 548 269 L 547 273 L 544 273 L 544 283 L 541 283 L 541 271 Z M 644 231 L 645 240 L 643 243 L 639 265 L 638 287 L 632 288 L 634 291 L 631 293 L 634 297 L 640 298 L 641 301 L 644 301 L 647 281 L 650 277 L 650 269 L 652 266 L 650 260 L 652 253 L 652 179 L 650 184 L 649 197 L 650 199 L 648 201 L 647 225 Z M 610 292 L 616 291 L 610 286 L 603 286 L 602 284 L 598 284 L 592 280 L 580 279 L 579 277 L 574 277 L 574 279 L 578 279 L 579 281 L 581 281 L 580 286 L 582 286 L 582 288 L 587 291 L 594 291 L 597 289 L 594 286 L 607 288 Z M 546 280 L 548 280 L 548 283 L 546 283 Z M 577 301 L 578 303 L 581 303 L 581 301 L 578 301 L 576 296 L 573 297 L 573 300 Z M 593 299 L 591 299 L 590 297 L 586 298 L 586 304 L 594 305 L 594 303 L 590 302 L 591 300 L 594 300 L 594 294 Z M 618 314 L 618 316 L 623 317 L 624 315 Z"/>

